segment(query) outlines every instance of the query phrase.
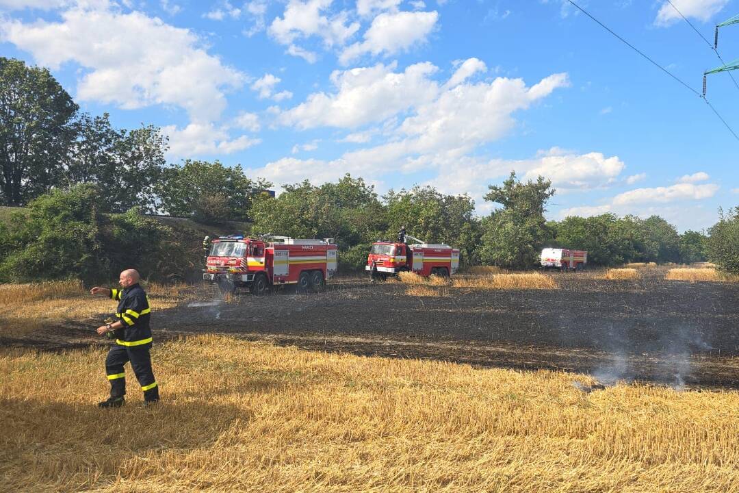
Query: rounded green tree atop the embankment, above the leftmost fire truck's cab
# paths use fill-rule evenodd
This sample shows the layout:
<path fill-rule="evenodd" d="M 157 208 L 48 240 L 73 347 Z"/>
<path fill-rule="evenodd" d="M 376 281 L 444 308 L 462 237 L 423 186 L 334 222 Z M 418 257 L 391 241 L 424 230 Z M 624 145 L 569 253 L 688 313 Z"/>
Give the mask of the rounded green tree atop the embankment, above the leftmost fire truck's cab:
<path fill-rule="evenodd" d="M 186 160 L 163 171 L 157 192 L 168 214 L 219 222 L 247 220 L 253 200 L 270 186 L 246 177 L 241 166 Z"/>

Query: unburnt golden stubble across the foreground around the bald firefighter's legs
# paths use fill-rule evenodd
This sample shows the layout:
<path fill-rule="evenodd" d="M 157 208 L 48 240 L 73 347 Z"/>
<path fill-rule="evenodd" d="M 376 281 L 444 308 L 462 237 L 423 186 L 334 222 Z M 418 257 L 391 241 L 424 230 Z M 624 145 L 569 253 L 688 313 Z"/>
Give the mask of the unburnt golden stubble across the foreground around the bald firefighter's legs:
<path fill-rule="evenodd" d="M 163 401 L 97 409 L 104 353 L 0 353 L 0 490 L 736 492 L 739 393 L 310 353 L 154 347 Z M 12 430 L 12 431 L 11 431 Z"/>

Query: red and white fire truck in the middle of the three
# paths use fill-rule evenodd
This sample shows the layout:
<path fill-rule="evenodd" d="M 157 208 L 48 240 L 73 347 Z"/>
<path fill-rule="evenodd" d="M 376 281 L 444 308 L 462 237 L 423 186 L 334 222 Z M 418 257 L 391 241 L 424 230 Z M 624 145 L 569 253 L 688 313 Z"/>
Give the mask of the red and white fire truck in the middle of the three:
<path fill-rule="evenodd" d="M 416 243 L 405 242 L 372 243 L 364 267 L 372 276 L 391 276 L 410 271 L 419 276 L 451 276 L 460 265 L 460 251 L 444 243 L 426 243 L 408 236 Z"/>

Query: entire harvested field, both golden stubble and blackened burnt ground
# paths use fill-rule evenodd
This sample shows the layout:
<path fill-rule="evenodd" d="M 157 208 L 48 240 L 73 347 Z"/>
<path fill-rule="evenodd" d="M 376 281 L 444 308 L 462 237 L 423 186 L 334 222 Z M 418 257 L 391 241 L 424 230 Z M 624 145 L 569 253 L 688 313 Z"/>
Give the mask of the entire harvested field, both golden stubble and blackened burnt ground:
<path fill-rule="evenodd" d="M 149 286 L 163 402 L 115 412 L 112 302 L 3 286 L 0 491 L 739 491 L 739 285 L 636 270 Z"/>

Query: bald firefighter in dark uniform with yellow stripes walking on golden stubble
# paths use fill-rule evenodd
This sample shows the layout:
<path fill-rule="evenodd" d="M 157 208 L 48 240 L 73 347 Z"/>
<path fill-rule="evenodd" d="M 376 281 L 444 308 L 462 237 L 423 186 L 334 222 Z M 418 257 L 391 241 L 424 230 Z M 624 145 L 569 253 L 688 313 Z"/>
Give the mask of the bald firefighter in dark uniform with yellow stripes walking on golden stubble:
<path fill-rule="evenodd" d="M 128 269 L 120 273 L 120 285 L 123 289 L 109 289 L 95 286 L 92 294 L 104 294 L 118 301 L 118 309 L 112 324 L 98 327 L 98 334 L 112 333 L 115 345 L 110 348 L 105 360 L 105 370 L 110 381 L 110 398 L 102 401 L 100 407 L 120 407 L 126 395 L 126 373 L 123 365 L 131 361 L 145 404 L 159 401 L 159 387 L 151 371 L 151 308 L 146 293 L 138 283 L 139 273 Z M 109 334 L 111 335 L 111 334 Z"/>

